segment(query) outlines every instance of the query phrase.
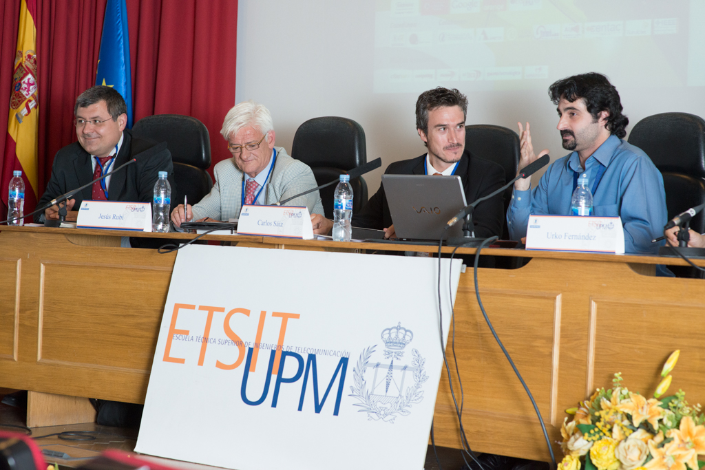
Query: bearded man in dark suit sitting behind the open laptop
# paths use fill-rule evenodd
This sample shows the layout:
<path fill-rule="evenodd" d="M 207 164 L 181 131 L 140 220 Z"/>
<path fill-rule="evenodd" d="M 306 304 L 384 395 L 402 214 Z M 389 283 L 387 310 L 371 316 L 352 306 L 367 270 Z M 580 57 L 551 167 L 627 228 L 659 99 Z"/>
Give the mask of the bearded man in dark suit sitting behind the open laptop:
<path fill-rule="evenodd" d="M 457 175 L 462 180 L 467 204 L 498 190 L 504 184 L 504 171 L 497 163 L 480 159 L 465 149 L 467 98 L 458 89 L 438 87 L 423 92 L 416 101 L 416 127 L 428 147 L 427 154 L 396 161 L 387 167 L 391 175 Z M 472 214 L 476 237 L 501 236 L 504 225 L 502 194 L 488 199 Z M 314 214 L 314 233 L 329 233 L 333 222 Z M 385 238 L 396 233 L 389 214 L 384 185 L 358 214 L 353 226 L 385 231 Z"/>

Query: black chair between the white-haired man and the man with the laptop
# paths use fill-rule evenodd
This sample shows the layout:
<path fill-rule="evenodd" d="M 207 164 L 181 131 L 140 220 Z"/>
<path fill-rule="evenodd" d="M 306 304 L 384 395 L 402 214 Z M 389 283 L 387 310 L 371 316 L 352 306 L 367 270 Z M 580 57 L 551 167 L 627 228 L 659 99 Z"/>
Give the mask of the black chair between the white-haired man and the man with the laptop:
<path fill-rule="evenodd" d="M 362 126 L 352 119 L 333 116 L 313 118 L 299 126 L 291 144 L 291 156 L 313 170 L 316 182 L 324 185 L 367 163 L 367 144 Z M 353 187 L 353 214 L 367 204 L 364 178 L 350 180 Z M 336 185 L 321 190 L 325 216 L 333 218 L 333 192 Z"/>

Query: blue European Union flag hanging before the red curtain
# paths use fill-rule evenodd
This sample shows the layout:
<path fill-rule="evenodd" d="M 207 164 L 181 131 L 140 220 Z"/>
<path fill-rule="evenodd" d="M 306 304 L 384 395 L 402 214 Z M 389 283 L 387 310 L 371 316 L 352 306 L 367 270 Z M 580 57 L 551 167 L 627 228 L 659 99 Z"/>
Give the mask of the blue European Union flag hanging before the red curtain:
<path fill-rule="evenodd" d="M 123 95 L 128 105 L 128 128 L 132 128 L 130 39 L 125 0 L 108 0 L 106 5 L 95 84 L 114 87 Z"/>

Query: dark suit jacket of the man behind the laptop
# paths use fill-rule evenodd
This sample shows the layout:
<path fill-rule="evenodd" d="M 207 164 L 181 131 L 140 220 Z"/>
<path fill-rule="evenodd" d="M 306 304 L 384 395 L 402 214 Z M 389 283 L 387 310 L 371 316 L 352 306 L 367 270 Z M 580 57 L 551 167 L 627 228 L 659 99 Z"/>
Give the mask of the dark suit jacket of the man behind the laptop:
<path fill-rule="evenodd" d="M 426 155 L 415 159 L 396 161 L 388 166 L 384 173 L 388 175 L 424 175 L 424 159 L 426 159 Z M 467 149 L 462 153 L 455 175 L 460 176 L 460 180 L 462 180 L 467 204 L 472 204 L 476 199 L 498 190 L 504 184 L 504 170 L 501 166 L 493 161 L 480 159 Z M 502 236 L 504 227 L 502 198 L 503 194 L 499 193 L 477 205 L 472 213 L 476 237 Z M 384 194 L 384 185 L 380 185 L 379 191 L 369 199 L 359 213 L 353 216 L 353 226 L 381 230 L 389 225 L 392 225 L 392 218 Z"/>

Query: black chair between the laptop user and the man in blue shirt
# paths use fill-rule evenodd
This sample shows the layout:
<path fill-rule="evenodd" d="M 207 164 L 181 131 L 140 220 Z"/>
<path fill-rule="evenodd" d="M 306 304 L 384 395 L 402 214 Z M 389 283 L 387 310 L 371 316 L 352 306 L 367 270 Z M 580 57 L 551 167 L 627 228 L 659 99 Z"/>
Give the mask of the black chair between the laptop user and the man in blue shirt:
<path fill-rule="evenodd" d="M 504 180 L 512 180 L 519 166 L 519 136 L 501 125 L 474 124 L 465 126 L 465 148 L 481 159 L 494 161 L 504 168 Z M 504 213 L 507 214 L 513 187 L 504 192 Z M 505 217 L 506 220 L 506 217 Z M 503 240 L 509 240 L 509 229 L 504 224 Z"/>

